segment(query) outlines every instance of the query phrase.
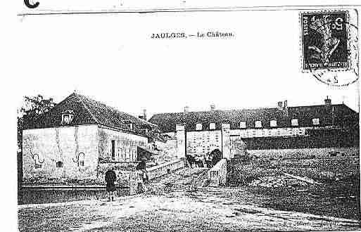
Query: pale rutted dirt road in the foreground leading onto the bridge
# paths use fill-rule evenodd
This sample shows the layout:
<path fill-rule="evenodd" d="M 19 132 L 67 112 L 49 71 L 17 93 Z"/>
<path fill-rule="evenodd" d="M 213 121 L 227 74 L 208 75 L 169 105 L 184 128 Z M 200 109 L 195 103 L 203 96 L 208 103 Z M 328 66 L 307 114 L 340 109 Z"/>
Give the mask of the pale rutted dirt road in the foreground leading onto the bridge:
<path fill-rule="evenodd" d="M 20 231 L 357 230 L 360 221 L 272 210 L 242 188 L 201 188 L 205 169 L 152 181 L 146 193 L 63 204 L 19 206 Z M 238 197 L 234 198 L 232 192 Z M 241 194 L 239 194 L 241 193 Z M 251 203 L 253 202 L 253 203 Z"/>

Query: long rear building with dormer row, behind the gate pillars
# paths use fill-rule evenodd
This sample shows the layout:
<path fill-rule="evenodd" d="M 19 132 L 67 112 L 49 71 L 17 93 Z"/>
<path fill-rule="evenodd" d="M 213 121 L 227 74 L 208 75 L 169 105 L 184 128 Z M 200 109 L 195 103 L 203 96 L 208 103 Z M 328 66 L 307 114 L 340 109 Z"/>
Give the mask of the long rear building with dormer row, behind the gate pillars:
<path fill-rule="evenodd" d="M 205 155 L 219 149 L 233 157 L 236 143 L 248 150 L 333 148 L 357 146 L 358 113 L 345 104 L 289 107 L 280 101 L 275 108 L 161 113 L 149 122 L 164 135 L 175 138 L 179 157 Z"/>

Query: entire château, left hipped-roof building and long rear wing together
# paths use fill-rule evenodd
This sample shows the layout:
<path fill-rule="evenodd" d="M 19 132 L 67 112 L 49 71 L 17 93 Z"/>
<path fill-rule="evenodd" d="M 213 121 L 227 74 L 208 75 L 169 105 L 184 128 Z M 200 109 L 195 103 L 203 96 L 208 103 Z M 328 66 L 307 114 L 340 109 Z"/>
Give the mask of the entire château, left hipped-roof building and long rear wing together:
<path fill-rule="evenodd" d="M 145 110 L 134 117 L 74 93 L 23 130 L 23 182 L 93 181 L 102 179 L 109 163 L 135 168 L 153 155 L 160 161 L 154 165 L 216 149 L 232 158 L 239 141 L 248 150 L 358 146 L 358 117 L 327 98 L 322 105 L 296 107 L 284 101 L 251 110 L 185 108 L 146 121 Z"/>

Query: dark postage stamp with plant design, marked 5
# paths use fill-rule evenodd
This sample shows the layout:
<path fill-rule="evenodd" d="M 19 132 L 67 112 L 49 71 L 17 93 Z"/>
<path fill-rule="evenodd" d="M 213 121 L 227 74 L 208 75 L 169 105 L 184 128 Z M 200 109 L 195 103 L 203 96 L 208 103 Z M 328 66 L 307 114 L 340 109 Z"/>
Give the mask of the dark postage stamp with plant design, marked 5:
<path fill-rule="evenodd" d="M 348 69 L 348 11 L 301 13 L 303 70 Z"/>

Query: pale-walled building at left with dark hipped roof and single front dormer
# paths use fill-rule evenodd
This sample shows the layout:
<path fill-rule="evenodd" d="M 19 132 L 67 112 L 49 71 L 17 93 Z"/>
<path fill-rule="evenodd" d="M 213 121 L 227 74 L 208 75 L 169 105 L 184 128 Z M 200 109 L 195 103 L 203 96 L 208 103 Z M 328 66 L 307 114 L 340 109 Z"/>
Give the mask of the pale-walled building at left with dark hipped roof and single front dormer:
<path fill-rule="evenodd" d="M 163 143 L 143 118 L 71 94 L 23 130 L 23 182 L 91 181 L 104 164 L 136 164 L 139 150 Z"/>

